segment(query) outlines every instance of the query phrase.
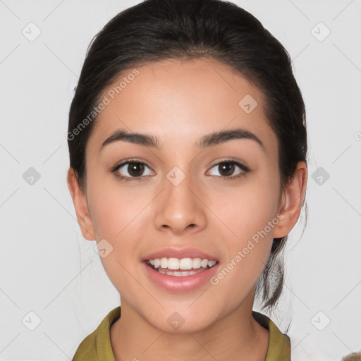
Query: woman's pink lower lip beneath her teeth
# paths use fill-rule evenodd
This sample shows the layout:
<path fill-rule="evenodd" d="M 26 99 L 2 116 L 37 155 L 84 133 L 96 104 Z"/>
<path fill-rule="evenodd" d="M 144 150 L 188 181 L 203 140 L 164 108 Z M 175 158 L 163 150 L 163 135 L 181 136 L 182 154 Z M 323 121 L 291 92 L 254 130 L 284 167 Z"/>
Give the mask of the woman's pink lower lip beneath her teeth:
<path fill-rule="evenodd" d="M 155 271 L 154 269 L 149 267 L 145 262 L 142 262 L 142 267 L 145 270 L 145 273 L 149 276 L 149 279 L 151 279 L 157 286 L 163 288 L 164 290 L 179 293 L 195 290 L 200 286 L 203 286 L 205 283 L 209 282 L 209 279 L 211 279 L 211 277 L 216 274 L 218 266 L 219 263 L 197 274 L 178 277 L 161 274 L 160 272 Z"/>

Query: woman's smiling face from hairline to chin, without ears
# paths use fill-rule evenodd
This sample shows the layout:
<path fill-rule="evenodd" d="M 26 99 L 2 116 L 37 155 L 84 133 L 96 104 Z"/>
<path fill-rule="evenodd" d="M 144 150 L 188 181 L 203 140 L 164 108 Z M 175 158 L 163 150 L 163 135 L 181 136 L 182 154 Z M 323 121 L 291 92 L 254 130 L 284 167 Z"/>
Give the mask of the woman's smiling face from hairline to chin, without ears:
<path fill-rule="evenodd" d="M 183 320 L 180 331 L 197 331 L 252 305 L 272 240 L 283 236 L 278 142 L 262 92 L 224 64 L 167 60 L 132 71 L 102 94 L 108 100 L 87 142 L 94 232 L 87 239 L 102 240 L 102 264 L 122 307 L 163 331 L 171 317 Z M 134 142 L 140 137 L 102 147 L 120 130 L 149 135 L 159 147 Z M 204 141 L 230 130 L 240 132 Z M 205 279 L 161 274 L 159 281 L 144 262 L 189 247 L 190 258 L 217 261 Z"/>

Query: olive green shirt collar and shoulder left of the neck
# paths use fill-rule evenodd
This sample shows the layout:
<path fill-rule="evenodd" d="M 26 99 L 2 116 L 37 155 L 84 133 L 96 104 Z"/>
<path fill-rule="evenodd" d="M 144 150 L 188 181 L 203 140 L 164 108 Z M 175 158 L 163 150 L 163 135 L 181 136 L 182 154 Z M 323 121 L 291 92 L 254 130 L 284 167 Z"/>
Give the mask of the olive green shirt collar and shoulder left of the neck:
<path fill-rule="evenodd" d="M 97 329 L 78 346 L 72 361 L 116 361 L 110 342 L 110 327 L 121 317 L 121 307 L 111 310 L 100 322 Z"/>

